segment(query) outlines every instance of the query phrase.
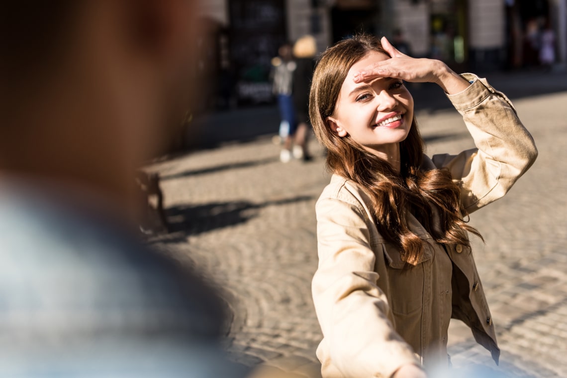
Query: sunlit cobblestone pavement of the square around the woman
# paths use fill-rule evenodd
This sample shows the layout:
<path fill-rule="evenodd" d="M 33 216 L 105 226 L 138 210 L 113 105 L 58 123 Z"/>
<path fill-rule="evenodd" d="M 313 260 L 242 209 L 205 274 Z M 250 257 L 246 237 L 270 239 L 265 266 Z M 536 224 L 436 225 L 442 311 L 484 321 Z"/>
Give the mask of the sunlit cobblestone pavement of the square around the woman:
<path fill-rule="evenodd" d="M 461 323 L 451 324 L 453 365 L 502 376 L 567 376 L 567 92 L 515 100 L 540 152 L 503 199 L 472 214 L 479 273 L 502 349 L 500 367 Z M 470 148 L 454 110 L 418 114 L 428 153 Z M 321 338 L 310 283 L 317 266 L 314 205 L 328 183 L 315 160 L 281 164 L 269 138 L 155 164 L 172 233 L 151 243 L 206 272 L 232 309 L 227 349 L 249 366 L 319 371 Z M 483 375 L 484 376 L 484 375 Z"/>

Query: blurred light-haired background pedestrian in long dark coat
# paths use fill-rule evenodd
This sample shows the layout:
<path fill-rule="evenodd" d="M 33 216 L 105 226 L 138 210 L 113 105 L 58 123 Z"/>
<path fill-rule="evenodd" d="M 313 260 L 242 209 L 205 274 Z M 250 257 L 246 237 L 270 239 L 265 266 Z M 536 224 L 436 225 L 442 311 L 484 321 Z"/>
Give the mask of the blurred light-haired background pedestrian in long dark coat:
<path fill-rule="evenodd" d="M 309 87 L 313 70 L 315 68 L 315 54 L 317 45 L 315 38 L 305 35 L 299 38 L 293 46 L 293 55 L 297 68 L 293 71 L 293 104 L 297 130 L 293 135 L 293 157 L 310 161 L 311 154 L 308 151 L 308 136 L 311 132 L 309 123 Z"/>

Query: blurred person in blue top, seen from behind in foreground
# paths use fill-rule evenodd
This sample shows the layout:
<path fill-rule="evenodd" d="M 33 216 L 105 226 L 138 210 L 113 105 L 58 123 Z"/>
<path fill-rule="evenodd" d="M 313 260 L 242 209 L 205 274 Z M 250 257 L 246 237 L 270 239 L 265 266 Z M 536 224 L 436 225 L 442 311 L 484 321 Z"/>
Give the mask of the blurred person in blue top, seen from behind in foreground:
<path fill-rule="evenodd" d="M 134 237 L 134 173 L 193 86 L 194 2 L 0 8 L 0 376 L 242 376 L 214 291 Z"/>

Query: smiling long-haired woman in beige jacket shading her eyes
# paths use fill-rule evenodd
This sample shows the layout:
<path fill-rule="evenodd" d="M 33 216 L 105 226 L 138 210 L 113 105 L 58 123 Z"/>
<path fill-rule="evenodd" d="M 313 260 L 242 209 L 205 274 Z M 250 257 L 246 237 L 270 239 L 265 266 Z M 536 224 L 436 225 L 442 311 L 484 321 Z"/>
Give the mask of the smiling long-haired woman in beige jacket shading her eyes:
<path fill-rule="evenodd" d="M 426 156 L 403 81 L 437 83 L 476 148 Z M 310 93 L 331 183 L 316 204 L 312 285 L 327 377 L 424 377 L 447 369 L 451 317 L 500 350 L 463 217 L 499 199 L 537 150 L 508 98 L 485 79 L 414 59 L 386 38 L 325 51 Z"/>

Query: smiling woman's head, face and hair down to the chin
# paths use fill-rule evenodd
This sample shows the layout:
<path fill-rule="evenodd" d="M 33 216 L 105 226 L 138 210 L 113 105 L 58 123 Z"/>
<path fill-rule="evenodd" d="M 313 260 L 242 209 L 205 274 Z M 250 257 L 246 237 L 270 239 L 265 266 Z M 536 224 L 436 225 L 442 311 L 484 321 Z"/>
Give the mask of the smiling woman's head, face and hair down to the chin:
<path fill-rule="evenodd" d="M 310 119 L 315 135 L 329 150 L 332 169 L 333 160 L 343 160 L 353 150 L 379 156 L 384 147 L 401 143 L 404 156 L 404 149 L 417 149 L 414 144 L 421 143 L 413 98 L 401 80 L 352 80 L 354 72 L 387 58 L 378 38 L 363 35 L 338 42 L 323 53 L 315 68 Z"/>

